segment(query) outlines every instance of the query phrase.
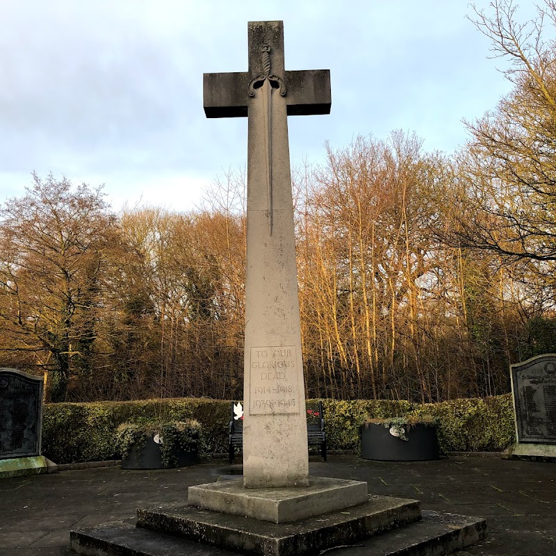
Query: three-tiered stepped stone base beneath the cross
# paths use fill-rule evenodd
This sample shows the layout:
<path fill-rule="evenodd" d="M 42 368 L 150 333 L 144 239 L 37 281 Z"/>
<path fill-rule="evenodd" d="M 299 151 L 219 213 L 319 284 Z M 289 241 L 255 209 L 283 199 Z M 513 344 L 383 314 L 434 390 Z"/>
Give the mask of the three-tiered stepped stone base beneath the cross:
<path fill-rule="evenodd" d="M 360 481 L 311 477 L 309 487 L 245 489 L 238 479 L 189 492 L 188 503 L 138 509 L 136 527 L 74 530 L 72 550 L 88 556 L 312 556 L 345 548 L 355 550 L 353 556 L 445 556 L 481 541 L 486 530 L 482 518 L 421 512 L 418 500 L 369 496 Z"/>

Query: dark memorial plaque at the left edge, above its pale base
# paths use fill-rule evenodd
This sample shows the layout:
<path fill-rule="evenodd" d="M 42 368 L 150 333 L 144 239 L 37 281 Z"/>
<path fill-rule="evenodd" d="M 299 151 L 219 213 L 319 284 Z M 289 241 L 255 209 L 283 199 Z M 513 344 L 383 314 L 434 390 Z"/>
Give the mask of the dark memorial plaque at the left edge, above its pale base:
<path fill-rule="evenodd" d="M 0 459 L 40 455 L 42 378 L 0 368 Z"/>

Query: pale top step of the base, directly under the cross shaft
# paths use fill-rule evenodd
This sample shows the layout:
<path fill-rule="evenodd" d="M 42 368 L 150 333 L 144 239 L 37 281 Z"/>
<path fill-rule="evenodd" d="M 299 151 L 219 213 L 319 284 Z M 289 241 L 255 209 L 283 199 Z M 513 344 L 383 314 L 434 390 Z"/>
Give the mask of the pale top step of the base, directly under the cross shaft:
<path fill-rule="evenodd" d="M 367 483 L 309 477 L 304 488 L 245 489 L 243 480 L 190 486 L 188 504 L 224 514 L 288 523 L 366 502 Z"/>

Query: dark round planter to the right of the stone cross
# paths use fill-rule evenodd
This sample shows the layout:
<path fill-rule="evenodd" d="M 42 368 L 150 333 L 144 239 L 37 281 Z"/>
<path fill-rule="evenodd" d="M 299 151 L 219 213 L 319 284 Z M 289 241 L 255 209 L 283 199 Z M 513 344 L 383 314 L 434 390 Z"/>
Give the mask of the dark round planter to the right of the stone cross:
<path fill-rule="evenodd" d="M 436 427 L 418 423 L 404 430 L 407 440 L 391 434 L 390 427 L 378 423 L 361 425 L 361 457 L 382 461 L 439 459 Z"/>

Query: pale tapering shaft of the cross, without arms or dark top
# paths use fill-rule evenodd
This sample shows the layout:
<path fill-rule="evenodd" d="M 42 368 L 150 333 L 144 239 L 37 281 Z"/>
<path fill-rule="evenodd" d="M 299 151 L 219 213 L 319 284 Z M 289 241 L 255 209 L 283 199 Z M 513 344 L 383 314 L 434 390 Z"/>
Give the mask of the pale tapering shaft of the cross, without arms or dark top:
<path fill-rule="evenodd" d="M 268 79 L 254 93 L 247 147 L 244 484 L 301 486 L 309 484 L 309 458 L 286 99 Z"/>

